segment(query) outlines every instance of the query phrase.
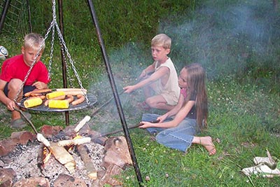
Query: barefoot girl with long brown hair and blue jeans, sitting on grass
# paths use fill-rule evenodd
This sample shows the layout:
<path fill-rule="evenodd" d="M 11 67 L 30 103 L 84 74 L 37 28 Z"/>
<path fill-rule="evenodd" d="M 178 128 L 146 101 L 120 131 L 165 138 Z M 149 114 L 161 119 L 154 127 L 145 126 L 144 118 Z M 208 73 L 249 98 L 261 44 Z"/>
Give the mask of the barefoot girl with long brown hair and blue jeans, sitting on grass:
<path fill-rule="evenodd" d="M 200 144 L 209 152 L 216 153 L 211 137 L 195 137 L 207 127 L 208 102 L 206 75 L 200 64 L 189 64 L 180 72 L 179 86 L 181 94 L 178 104 L 164 115 L 145 113 L 140 128 L 150 133 L 158 133 L 158 143 L 170 148 L 187 151 L 191 144 Z M 172 118 L 174 116 L 174 118 Z M 158 123 L 151 123 L 158 120 Z"/>

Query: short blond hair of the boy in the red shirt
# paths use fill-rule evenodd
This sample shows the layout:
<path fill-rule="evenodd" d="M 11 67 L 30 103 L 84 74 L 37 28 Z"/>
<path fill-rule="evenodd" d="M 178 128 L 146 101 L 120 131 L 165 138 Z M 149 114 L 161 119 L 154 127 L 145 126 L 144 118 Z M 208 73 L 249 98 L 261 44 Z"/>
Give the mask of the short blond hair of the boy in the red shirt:
<path fill-rule="evenodd" d="M 30 33 L 25 35 L 25 48 L 39 49 L 41 46 L 41 51 L 45 50 L 45 41 L 43 39 L 43 36 L 36 33 Z"/>

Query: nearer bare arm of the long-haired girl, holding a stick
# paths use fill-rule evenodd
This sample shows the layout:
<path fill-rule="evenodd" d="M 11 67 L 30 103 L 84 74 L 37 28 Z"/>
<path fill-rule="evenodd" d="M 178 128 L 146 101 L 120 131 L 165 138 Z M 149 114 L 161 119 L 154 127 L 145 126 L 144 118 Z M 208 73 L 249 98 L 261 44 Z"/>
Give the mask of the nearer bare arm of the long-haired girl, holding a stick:
<path fill-rule="evenodd" d="M 168 121 L 165 123 L 149 123 L 146 121 L 141 121 L 141 126 L 139 128 L 148 128 L 148 127 L 161 127 L 161 128 L 170 128 L 170 127 L 176 127 L 183 121 L 184 118 L 188 115 L 190 112 L 190 109 L 195 105 L 195 101 L 188 101 L 185 106 L 183 106 L 180 111 L 176 114 L 174 120 Z"/>

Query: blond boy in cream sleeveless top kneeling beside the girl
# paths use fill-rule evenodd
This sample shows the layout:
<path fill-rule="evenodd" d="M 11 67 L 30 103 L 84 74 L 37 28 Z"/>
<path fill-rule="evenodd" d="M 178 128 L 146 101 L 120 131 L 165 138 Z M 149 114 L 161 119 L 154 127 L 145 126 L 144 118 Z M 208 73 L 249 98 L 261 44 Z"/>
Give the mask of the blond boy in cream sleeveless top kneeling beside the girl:
<path fill-rule="evenodd" d="M 178 76 L 172 60 L 167 56 L 170 53 L 172 40 L 166 34 L 158 34 L 151 41 L 153 64 L 144 69 L 139 79 L 143 81 L 128 85 L 125 93 L 138 88 L 144 88 L 145 102 L 142 108 L 162 109 L 170 111 L 179 100 L 180 88 Z"/>

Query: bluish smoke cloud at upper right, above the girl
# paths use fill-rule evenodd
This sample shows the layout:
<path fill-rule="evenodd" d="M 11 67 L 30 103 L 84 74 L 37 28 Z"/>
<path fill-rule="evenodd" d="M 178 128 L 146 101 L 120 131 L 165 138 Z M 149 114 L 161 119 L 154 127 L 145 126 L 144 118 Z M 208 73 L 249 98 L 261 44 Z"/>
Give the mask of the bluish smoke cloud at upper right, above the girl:
<path fill-rule="evenodd" d="M 162 20 L 159 32 L 171 36 L 179 69 L 200 62 L 209 78 L 218 78 L 244 74 L 255 60 L 255 66 L 279 67 L 271 57 L 279 45 L 279 18 L 269 1 L 206 1 L 193 14 L 187 10 L 179 23 Z"/>

